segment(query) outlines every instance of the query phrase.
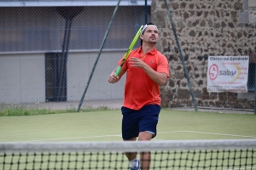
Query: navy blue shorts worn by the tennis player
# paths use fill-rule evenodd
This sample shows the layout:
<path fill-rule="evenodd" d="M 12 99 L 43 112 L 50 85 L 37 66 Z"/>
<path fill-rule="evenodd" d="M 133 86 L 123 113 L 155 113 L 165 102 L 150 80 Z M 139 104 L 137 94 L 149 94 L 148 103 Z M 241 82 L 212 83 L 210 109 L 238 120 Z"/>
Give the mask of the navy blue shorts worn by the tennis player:
<path fill-rule="evenodd" d="M 138 137 L 140 132 L 154 133 L 156 136 L 156 125 L 160 113 L 160 105 L 144 105 L 139 111 L 127 107 L 121 108 L 123 114 L 122 137 L 125 140 Z"/>

